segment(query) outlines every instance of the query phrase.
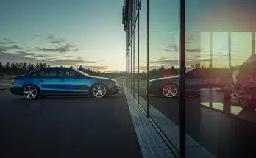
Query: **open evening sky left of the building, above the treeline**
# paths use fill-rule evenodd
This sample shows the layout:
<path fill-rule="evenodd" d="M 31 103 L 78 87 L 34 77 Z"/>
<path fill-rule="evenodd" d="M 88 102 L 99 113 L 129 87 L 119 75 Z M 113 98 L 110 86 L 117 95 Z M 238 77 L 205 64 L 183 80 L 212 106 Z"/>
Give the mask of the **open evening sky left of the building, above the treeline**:
<path fill-rule="evenodd" d="M 15 56 L 17 59 L 8 59 L 10 56 L 7 56 L 7 59 L 1 57 L 0 60 L 63 60 L 58 63 L 65 65 L 82 60 L 81 65 L 96 70 L 124 69 L 123 4 L 124 1 L 120 0 L 1 1 L 0 41 L 10 40 L 22 48 L 10 49 L 7 53 L 23 51 L 31 58 L 24 60 L 19 54 Z M 63 49 L 65 46 L 66 50 Z M 32 58 L 32 54 L 39 57 Z"/>

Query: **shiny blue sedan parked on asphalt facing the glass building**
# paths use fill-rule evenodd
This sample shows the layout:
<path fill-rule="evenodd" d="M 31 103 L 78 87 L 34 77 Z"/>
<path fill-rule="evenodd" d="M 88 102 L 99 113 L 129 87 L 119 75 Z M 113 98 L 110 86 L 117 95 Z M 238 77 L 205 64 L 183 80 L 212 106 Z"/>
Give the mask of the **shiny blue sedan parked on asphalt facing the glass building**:
<path fill-rule="evenodd" d="M 118 82 L 75 68 L 39 68 L 21 76 L 13 76 L 10 92 L 28 100 L 46 96 L 92 95 L 96 98 L 120 93 Z"/>

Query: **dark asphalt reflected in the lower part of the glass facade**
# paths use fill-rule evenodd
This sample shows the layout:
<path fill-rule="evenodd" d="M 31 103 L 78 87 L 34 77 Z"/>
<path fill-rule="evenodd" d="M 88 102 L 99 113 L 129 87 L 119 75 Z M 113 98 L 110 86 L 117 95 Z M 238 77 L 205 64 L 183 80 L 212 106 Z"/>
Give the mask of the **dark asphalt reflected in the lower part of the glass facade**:
<path fill-rule="evenodd" d="M 146 99 L 144 93 L 141 96 Z M 213 97 L 211 109 L 208 97 L 186 98 L 186 132 L 217 157 L 255 157 L 256 112 L 223 101 L 220 92 Z M 176 124 L 178 103 L 175 98 L 150 96 L 150 104 Z M 224 112 L 223 108 L 229 106 L 230 110 Z"/>

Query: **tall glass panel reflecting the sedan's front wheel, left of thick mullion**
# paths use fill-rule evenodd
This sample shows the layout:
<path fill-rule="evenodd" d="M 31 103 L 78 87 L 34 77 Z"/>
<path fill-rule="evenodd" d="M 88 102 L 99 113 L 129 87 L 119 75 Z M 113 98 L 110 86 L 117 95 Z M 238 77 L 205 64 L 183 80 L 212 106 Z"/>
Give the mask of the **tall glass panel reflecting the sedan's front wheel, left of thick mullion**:
<path fill-rule="evenodd" d="M 150 118 L 179 149 L 179 85 L 168 79 L 179 73 L 179 1 L 150 1 Z M 190 51 L 190 50 L 189 50 Z M 193 58 L 196 50 L 189 54 Z M 199 53 L 199 52 L 198 52 Z M 193 62 L 189 62 L 191 65 Z"/>

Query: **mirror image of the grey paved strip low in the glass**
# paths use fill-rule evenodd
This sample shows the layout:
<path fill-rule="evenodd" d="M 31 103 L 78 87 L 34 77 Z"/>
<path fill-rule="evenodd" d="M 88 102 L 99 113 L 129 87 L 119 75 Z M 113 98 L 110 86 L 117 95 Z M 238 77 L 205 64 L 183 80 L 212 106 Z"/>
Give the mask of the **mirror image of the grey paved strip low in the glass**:
<path fill-rule="evenodd" d="M 138 94 L 135 92 L 135 95 L 137 96 Z M 144 103 L 146 102 L 146 100 L 144 99 L 144 98 L 142 98 L 141 96 L 140 96 L 140 101 L 143 101 Z M 137 104 L 137 103 L 136 103 Z M 151 114 L 155 114 L 156 112 L 157 113 L 159 113 L 160 114 L 160 117 L 163 117 L 166 121 L 168 121 L 168 125 L 167 125 L 167 127 L 168 127 L 168 129 L 170 129 L 170 127 L 173 127 L 174 129 L 178 129 L 179 128 L 179 126 L 177 126 L 173 121 L 171 121 L 170 119 L 168 119 L 165 115 L 163 115 L 163 113 L 162 112 L 159 112 L 156 108 L 154 108 L 153 106 L 152 106 L 152 104 L 149 104 L 149 106 L 151 107 L 151 109 L 150 110 L 152 110 L 153 112 L 151 112 Z M 154 121 L 155 122 L 155 121 Z M 161 125 L 160 125 L 161 126 Z M 165 125 L 166 126 L 166 125 Z M 163 125 L 162 125 L 162 127 L 163 127 Z M 161 129 L 161 127 L 160 127 L 160 129 Z M 163 133 L 163 131 L 161 130 L 161 132 Z M 175 133 L 177 133 L 177 132 L 174 132 L 174 134 Z M 178 133 L 179 134 L 179 133 Z M 165 135 L 165 134 L 164 134 Z M 177 137 L 179 137 L 179 135 L 177 136 Z M 167 137 L 168 138 L 168 137 Z M 191 150 L 188 150 L 189 148 L 199 148 L 200 149 L 200 151 L 201 151 L 201 155 L 204 155 L 204 157 L 207 155 L 207 157 L 216 157 L 215 155 L 213 155 L 213 154 L 211 154 L 209 151 L 207 151 L 203 146 L 201 146 L 201 145 L 199 145 L 199 143 L 197 143 L 196 142 L 196 140 L 193 140 L 193 138 L 190 136 L 190 135 L 188 135 L 188 134 L 186 134 L 186 140 L 188 140 L 188 141 L 190 141 L 190 144 L 186 144 L 186 150 L 187 150 L 187 152 L 188 151 L 191 151 Z M 168 138 L 169 139 L 169 138 Z M 169 140 L 169 141 L 171 141 L 171 140 Z M 177 141 L 175 141 L 175 140 L 173 140 L 174 142 L 177 142 Z M 178 144 L 177 143 L 173 143 L 173 141 L 171 141 L 171 144 L 174 144 L 174 146 L 175 146 L 175 144 L 176 144 L 176 148 L 178 149 Z M 191 143 L 193 143 L 193 144 L 195 144 L 195 145 L 191 145 Z M 195 152 L 195 151 L 191 151 L 191 152 L 189 152 L 189 154 L 188 154 L 189 156 L 188 157 L 195 157 L 195 158 L 199 158 L 200 156 L 199 156 L 199 152 L 197 151 L 197 152 Z"/>

